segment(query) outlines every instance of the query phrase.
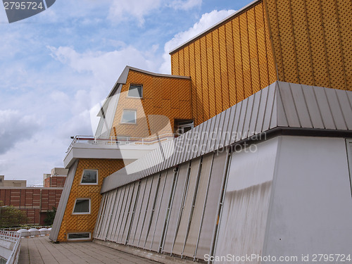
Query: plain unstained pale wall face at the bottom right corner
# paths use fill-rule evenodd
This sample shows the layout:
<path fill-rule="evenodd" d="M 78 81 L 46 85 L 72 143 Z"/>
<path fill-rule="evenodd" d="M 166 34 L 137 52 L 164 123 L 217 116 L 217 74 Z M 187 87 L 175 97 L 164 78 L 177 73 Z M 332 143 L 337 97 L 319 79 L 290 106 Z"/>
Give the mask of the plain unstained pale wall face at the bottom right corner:
<path fill-rule="evenodd" d="M 298 263 L 313 263 L 313 254 L 352 253 L 345 140 L 281 139 L 263 256 L 297 256 Z M 339 263 L 336 258 L 329 263 Z"/>

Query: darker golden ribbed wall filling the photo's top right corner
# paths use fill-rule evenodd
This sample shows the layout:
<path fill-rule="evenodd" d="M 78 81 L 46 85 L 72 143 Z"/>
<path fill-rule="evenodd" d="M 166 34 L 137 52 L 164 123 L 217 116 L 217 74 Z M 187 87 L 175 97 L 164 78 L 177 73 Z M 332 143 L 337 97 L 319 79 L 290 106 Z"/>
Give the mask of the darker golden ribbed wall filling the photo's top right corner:
<path fill-rule="evenodd" d="M 352 91 L 350 0 L 265 0 L 279 81 Z"/>

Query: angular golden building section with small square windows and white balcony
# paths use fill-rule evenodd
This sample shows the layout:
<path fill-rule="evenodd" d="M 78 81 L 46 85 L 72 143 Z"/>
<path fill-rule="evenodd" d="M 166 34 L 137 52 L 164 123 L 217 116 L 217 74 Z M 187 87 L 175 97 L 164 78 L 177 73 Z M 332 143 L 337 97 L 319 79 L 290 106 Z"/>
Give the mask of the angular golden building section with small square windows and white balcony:
<path fill-rule="evenodd" d="M 191 129 L 190 92 L 189 77 L 125 68 L 101 106 L 95 136 L 77 136 L 68 149 L 52 240 L 92 239 L 103 179 Z"/>

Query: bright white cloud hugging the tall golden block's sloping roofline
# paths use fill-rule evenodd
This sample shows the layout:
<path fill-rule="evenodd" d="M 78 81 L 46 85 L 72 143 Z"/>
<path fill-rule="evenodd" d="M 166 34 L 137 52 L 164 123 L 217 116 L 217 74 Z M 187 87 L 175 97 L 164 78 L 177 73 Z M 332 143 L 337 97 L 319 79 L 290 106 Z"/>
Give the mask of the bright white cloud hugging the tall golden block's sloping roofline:
<path fill-rule="evenodd" d="M 190 27 L 188 30 L 175 34 L 175 36 L 164 46 L 163 59 L 164 62 L 159 68 L 161 73 L 171 73 L 171 61 L 170 61 L 170 51 L 177 48 L 184 42 L 187 42 L 189 39 L 195 37 L 197 34 L 207 30 L 209 27 L 220 22 L 222 19 L 227 18 L 227 16 L 232 15 L 234 10 L 221 10 L 221 11 L 211 11 L 210 13 L 205 13 L 201 16 L 201 19 Z"/>

